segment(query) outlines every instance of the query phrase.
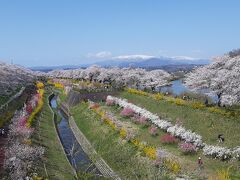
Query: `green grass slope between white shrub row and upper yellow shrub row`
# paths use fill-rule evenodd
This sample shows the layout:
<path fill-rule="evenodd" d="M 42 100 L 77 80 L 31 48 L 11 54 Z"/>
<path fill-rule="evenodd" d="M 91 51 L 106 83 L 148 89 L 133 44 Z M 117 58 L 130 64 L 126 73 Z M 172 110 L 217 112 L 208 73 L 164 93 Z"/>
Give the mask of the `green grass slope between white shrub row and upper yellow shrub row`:
<path fill-rule="evenodd" d="M 176 119 L 179 118 L 186 129 L 200 134 L 203 141 L 208 144 L 218 144 L 218 134 L 223 134 L 225 142 L 221 146 L 236 147 L 239 145 L 240 133 L 236 133 L 240 127 L 239 117 L 230 118 L 188 106 L 178 106 L 165 100 L 156 101 L 151 97 L 128 92 L 120 93 L 119 97 L 126 98 L 129 102 L 146 108 L 171 122 L 175 123 Z"/>

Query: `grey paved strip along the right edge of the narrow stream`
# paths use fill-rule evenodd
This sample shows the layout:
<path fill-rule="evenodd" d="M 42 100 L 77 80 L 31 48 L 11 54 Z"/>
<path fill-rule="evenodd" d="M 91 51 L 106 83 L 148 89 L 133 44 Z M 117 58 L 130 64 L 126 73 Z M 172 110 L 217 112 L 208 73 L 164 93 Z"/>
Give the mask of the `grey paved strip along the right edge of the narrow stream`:
<path fill-rule="evenodd" d="M 103 176 L 120 180 L 120 177 L 115 172 L 113 172 L 113 170 L 107 165 L 107 163 L 101 157 L 99 157 L 99 155 L 97 154 L 95 149 L 92 147 L 91 143 L 87 140 L 87 138 L 84 136 L 84 134 L 77 127 L 77 124 L 75 123 L 72 116 L 69 117 L 69 125 L 70 125 L 78 143 L 82 146 L 84 152 L 89 157 L 96 158 L 94 160 L 94 164 L 99 169 L 99 171 L 103 174 Z"/>

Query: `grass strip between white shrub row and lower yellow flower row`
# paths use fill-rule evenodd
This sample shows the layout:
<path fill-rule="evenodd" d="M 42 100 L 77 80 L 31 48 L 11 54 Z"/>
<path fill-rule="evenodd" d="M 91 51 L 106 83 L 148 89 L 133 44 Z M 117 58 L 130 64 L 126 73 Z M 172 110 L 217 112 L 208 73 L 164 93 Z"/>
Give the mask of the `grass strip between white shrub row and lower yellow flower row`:
<path fill-rule="evenodd" d="M 148 127 L 141 126 L 141 125 L 136 125 L 131 121 L 130 118 L 125 118 L 120 116 L 121 109 L 119 109 L 117 106 L 102 106 L 103 109 L 105 109 L 108 112 L 111 112 L 115 114 L 115 116 L 123 121 L 123 122 L 128 122 L 131 127 L 134 127 L 134 129 L 137 129 L 137 138 L 140 139 L 143 142 L 148 142 L 149 145 L 152 145 L 156 148 L 164 149 L 167 152 L 169 152 L 173 158 L 175 158 L 180 164 L 182 171 L 184 174 L 190 175 L 192 178 L 198 176 L 198 170 L 197 170 L 197 159 L 199 156 L 203 158 L 204 161 L 204 170 L 201 172 L 201 177 L 206 178 L 211 174 L 214 174 L 218 170 L 221 169 L 227 169 L 230 166 L 237 166 L 239 164 L 237 163 L 225 163 L 221 162 L 219 160 L 213 160 L 211 158 L 204 157 L 202 155 L 202 152 L 199 151 L 196 154 L 192 155 L 184 155 L 179 149 L 178 149 L 178 143 L 175 144 L 163 144 L 160 141 L 160 137 L 164 134 L 166 134 L 162 130 L 158 130 L 158 135 L 157 136 L 152 136 L 148 132 Z M 178 141 L 180 142 L 180 141 Z M 235 174 L 235 172 L 234 172 Z"/>

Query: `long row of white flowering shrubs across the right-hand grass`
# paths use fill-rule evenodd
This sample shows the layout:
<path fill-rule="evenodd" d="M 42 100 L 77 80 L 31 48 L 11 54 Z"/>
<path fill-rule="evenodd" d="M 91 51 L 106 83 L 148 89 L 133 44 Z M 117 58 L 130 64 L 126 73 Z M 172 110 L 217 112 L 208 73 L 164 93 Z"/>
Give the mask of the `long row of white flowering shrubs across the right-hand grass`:
<path fill-rule="evenodd" d="M 113 101 L 114 104 L 128 109 L 130 112 L 134 112 L 139 117 L 145 117 L 148 121 L 154 124 L 156 127 L 165 130 L 172 136 L 180 138 L 186 144 L 179 145 L 179 148 L 184 152 L 184 149 L 188 149 L 189 152 L 195 152 L 198 148 L 203 148 L 203 154 L 213 158 L 227 160 L 230 158 L 240 160 L 240 147 L 234 149 L 228 149 L 225 147 L 211 146 L 203 143 L 202 137 L 191 130 L 186 130 L 179 124 L 172 125 L 171 122 L 160 119 L 157 115 L 140 108 L 132 103 L 128 103 L 127 100 L 123 100 L 117 97 L 108 96 L 106 101 Z M 131 110 L 130 110 L 131 109 Z M 134 115 L 133 115 L 134 116 Z"/>

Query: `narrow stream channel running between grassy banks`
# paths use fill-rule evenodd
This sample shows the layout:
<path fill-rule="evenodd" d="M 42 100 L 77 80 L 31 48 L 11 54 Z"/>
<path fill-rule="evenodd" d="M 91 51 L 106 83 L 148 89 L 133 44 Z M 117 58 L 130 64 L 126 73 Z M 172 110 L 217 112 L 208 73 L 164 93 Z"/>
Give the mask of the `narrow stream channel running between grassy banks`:
<path fill-rule="evenodd" d="M 76 140 L 69 126 L 67 116 L 57 107 L 56 98 L 57 96 L 54 96 L 50 100 L 50 105 L 52 109 L 58 113 L 59 119 L 55 120 L 55 123 L 59 138 L 69 162 L 76 171 L 84 171 L 96 176 L 102 176 L 101 172 L 96 168 L 94 163 L 89 159 L 88 155 L 83 151 L 81 145 Z"/>

